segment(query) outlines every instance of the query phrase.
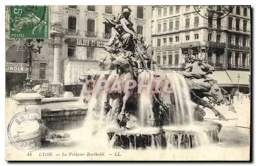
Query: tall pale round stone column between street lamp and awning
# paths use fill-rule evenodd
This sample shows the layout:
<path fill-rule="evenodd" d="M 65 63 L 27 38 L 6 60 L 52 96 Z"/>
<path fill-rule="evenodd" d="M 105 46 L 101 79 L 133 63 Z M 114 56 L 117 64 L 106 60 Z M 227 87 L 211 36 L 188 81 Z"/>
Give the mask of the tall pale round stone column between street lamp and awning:
<path fill-rule="evenodd" d="M 53 82 L 52 82 L 52 91 L 58 95 L 60 92 L 60 61 L 59 61 L 59 49 L 60 49 L 60 36 L 55 35 L 54 38 L 54 60 L 53 60 Z"/>

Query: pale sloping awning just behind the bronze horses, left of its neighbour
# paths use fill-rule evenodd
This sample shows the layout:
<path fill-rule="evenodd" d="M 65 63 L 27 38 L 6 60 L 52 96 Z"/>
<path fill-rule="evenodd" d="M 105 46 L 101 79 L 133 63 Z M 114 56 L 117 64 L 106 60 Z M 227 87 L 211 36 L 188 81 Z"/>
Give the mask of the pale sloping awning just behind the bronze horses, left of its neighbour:
<path fill-rule="evenodd" d="M 208 75 L 210 78 L 218 81 L 218 85 L 222 87 L 229 87 L 233 85 L 232 80 L 226 71 L 214 71 Z"/>

